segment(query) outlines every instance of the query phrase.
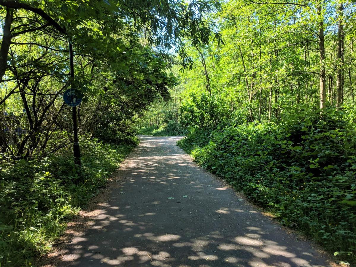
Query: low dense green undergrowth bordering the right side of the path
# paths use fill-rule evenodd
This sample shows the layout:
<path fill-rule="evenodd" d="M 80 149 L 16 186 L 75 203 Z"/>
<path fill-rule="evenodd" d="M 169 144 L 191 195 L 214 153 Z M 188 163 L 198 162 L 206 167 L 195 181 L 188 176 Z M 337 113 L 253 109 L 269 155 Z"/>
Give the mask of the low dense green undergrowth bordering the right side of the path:
<path fill-rule="evenodd" d="M 336 254 L 356 251 L 354 113 L 305 110 L 279 124 L 191 130 L 178 145 Z"/>

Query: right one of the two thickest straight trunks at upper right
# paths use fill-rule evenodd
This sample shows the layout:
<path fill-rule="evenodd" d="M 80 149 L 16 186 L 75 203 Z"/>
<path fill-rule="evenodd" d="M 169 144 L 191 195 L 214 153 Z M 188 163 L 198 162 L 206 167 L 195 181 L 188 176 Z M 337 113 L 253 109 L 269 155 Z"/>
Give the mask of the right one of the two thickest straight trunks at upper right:
<path fill-rule="evenodd" d="M 337 71 L 336 71 L 336 109 L 341 108 L 342 103 L 342 72 L 343 72 L 343 57 L 342 57 L 342 5 L 339 6 L 339 11 L 337 12 L 339 18 L 339 25 L 337 27 Z"/>

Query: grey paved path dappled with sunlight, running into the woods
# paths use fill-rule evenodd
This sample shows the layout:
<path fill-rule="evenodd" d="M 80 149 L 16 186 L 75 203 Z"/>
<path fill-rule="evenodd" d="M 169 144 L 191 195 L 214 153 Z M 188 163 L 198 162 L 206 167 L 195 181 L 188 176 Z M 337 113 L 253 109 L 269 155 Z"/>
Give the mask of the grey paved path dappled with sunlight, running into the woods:
<path fill-rule="evenodd" d="M 193 163 L 175 145 L 180 138 L 140 137 L 63 266 L 327 266 Z"/>

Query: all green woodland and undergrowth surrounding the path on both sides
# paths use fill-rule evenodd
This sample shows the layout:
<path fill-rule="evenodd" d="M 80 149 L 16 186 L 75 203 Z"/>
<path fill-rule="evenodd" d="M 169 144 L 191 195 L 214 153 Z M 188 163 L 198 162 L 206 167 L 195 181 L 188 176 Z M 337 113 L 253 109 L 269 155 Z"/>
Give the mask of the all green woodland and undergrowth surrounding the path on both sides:
<path fill-rule="evenodd" d="M 36 265 L 137 144 L 178 143 L 355 262 L 349 0 L 0 0 L 0 265 Z M 75 78 L 69 75 L 73 43 Z M 82 166 L 73 163 L 77 109 Z"/>

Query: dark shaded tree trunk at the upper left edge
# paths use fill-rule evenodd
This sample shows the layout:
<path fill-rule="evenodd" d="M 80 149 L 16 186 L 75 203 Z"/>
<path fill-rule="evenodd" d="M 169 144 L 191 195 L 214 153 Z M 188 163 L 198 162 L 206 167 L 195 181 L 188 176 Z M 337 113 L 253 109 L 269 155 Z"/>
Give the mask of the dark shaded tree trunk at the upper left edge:
<path fill-rule="evenodd" d="M 11 23 L 12 23 L 12 15 L 14 11 L 9 7 L 6 8 L 6 16 L 4 21 L 4 28 L 2 28 L 2 42 L 0 49 L 0 82 L 2 81 L 2 77 L 5 75 L 5 71 L 7 69 L 7 54 L 9 54 L 9 48 L 11 43 Z"/>

